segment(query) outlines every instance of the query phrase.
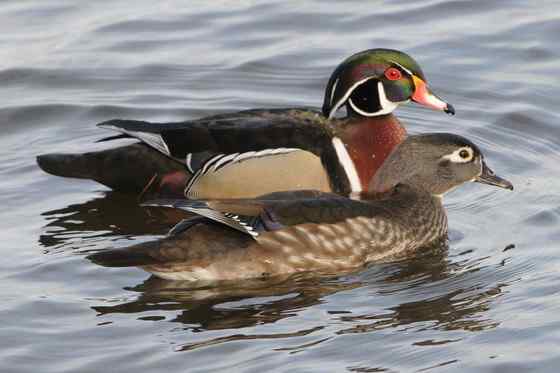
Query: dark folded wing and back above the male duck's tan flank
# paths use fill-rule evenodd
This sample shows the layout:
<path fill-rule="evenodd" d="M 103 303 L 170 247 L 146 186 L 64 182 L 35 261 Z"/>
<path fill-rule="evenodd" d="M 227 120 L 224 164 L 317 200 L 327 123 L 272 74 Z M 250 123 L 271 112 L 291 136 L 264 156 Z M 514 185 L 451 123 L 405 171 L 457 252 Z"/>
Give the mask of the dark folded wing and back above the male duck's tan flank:
<path fill-rule="evenodd" d="M 190 159 L 193 170 L 215 154 L 299 148 L 321 155 L 331 148 L 334 131 L 311 109 L 246 110 L 173 123 L 114 119 L 98 126 L 137 138 L 185 163 Z"/>

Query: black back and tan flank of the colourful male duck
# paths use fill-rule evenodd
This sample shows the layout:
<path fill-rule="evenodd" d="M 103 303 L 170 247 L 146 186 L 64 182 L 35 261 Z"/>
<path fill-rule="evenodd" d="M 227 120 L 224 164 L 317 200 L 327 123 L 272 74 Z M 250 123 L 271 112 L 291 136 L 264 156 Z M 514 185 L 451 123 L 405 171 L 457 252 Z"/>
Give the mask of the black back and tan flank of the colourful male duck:
<path fill-rule="evenodd" d="M 311 109 L 258 109 L 187 122 L 112 120 L 100 126 L 184 164 L 193 175 L 185 195 L 211 199 L 302 188 L 348 191 L 333 143 L 336 123 Z"/>

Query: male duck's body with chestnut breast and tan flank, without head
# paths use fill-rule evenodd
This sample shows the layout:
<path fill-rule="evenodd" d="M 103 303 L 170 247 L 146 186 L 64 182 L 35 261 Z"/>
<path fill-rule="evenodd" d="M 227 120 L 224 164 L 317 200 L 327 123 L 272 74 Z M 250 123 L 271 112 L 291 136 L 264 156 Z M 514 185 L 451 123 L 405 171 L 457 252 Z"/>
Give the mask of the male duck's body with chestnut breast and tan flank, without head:
<path fill-rule="evenodd" d="M 392 114 L 327 120 L 312 109 L 247 110 L 173 123 L 111 120 L 100 127 L 137 136 L 147 146 L 50 154 L 39 164 L 62 176 L 166 197 L 251 198 L 300 189 L 348 194 L 366 190 L 406 136 Z M 136 176 L 127 178 L 131 171 Z"/>

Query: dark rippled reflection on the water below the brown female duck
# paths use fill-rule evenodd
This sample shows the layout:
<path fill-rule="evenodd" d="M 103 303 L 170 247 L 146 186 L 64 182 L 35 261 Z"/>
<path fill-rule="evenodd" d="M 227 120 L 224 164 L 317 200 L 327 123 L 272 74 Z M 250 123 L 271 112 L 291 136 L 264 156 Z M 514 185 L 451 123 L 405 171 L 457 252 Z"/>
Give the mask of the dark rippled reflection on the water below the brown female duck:
<path fill-rule="evenodd" d="M 474 270 L 474 262 L 477 261 L 464 260 L 460 264 L 451 261 L 447 255 L 447 245 L 444 244 L 411 260 L 372 265 L 360 272 L 337 276 L 297 274 L 197 287 L 190 283 L 150 277 L 141 284 L 125 288 L 137 292 L 137 299 L 92 308 L 104 317 L 123 313 L 141 315 L 147 311 L 152 315 L 156 311 L 157 315 L 157 311 L 166 311 L 167 316 L 159 317 L 160 320 L 180 323 L 185 330 L 192 332 L 275 324 L 285 318 L 298 316 L 312 306 L 333 304 L 335 301 L 330 296 L 358 288 L 360 290 L 350 293 L 350 296 L 357 297 L 357 301 L 362 303 L 360 309 L 371 303 L 371 309 L 375 310 L 355 314 L 352 307 L 344 305 L 352 302 L 346 302 L 336 311 L 328 311 L 328 320 L 318 318 L 319 325 L 306 322 L 302 329 L 289 332 L 275 327 L 271 333 L 226 333 L 218 338 L 186 343 L 180 350 L 232 340 L 303 336 L 334 324 L 339 325 L 334 332 L 336 335 L 375 332 L 387 328 L 405 331 L 410 328 L 465 331 L 495 328 L 500 322 L 492 320 L 489 311 L 494 300 L 509 285 L 502 276 L 510 278 L 511 273 L 497 272 L 499 265 L 478 266 Z M 481 276 L 484 281 L 481 281 Z M 175 312 L 174 316 L 169 317 L 169 311 Z M 139 320 L 150 321 L 154 318 L 158 319 L 158 316 L 147 319 L 138 317 Z M 330 336 L 320 338 L 320 341 L 328 338 Z"/>

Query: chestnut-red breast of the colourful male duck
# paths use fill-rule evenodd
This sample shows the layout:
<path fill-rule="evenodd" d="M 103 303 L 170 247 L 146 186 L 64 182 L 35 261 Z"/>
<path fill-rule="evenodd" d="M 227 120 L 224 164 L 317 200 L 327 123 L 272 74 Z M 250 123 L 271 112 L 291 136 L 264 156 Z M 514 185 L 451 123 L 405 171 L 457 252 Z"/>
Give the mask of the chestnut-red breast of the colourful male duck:
<path fill-rule="evenodd" d="M 353 163 L 347 167 L 355 168 L 360 191 L 368 189 L 370 180 L 385 158 L 405 137 L 406 130 L 393 114 L 349 119 L 340 134 L 340 139 Z"/>

